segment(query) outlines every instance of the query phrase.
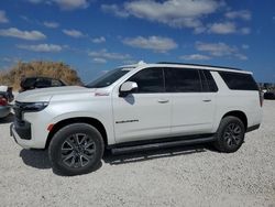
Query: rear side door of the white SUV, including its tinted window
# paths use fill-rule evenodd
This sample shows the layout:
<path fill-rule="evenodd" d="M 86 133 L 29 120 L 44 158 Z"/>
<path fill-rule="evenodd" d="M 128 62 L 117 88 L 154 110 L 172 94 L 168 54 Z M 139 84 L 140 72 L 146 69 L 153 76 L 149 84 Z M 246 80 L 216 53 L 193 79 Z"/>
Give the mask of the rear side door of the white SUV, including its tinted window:
<path fill-rule="evenodd" d="M 205 75 L 193 68 L 165 68 L 166 91 L 172 95 L 172 134 L 210 133 L 216 94 L 204 88 Z"/>

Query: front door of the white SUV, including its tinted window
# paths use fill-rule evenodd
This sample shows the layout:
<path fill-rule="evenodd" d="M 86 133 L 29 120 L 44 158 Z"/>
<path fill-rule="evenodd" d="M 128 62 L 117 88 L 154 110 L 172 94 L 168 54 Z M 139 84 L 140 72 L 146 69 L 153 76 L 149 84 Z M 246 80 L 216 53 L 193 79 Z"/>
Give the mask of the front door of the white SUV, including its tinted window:
<path fill-rule="evenodd" d="M 117 143 L 164 138 L 170 133 L 170 95 L 164 89 L 162 68 L 145 68 L 129 81 L 138 90 L 127 97 L 113 92 L 113 118 Z"/>

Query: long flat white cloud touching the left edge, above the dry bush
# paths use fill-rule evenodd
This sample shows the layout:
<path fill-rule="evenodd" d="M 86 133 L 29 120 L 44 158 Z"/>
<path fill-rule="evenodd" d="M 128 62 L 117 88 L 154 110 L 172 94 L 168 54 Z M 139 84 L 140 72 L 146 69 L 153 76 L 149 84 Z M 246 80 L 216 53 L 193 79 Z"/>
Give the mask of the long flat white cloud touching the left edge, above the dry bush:
<path fill-rule="evenodd" d="M 0 30 L 0 36 L 11 36 L 16 39 L 23 39 L 28 41 L 38 41 L 46 39 L 46 35 L 38 31 L 21 31 L 16 28 Z"/>

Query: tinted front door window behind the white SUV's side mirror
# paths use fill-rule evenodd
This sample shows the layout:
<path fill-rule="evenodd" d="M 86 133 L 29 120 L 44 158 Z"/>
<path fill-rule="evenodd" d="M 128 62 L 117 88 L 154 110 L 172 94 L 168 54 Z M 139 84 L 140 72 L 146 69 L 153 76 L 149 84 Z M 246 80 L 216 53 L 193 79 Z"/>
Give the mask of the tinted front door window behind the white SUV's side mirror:
<path fill-rule="evenodd" d="M 136 92 L 164 92 L 162 68 L 146 68 L 133 75 L 129 81 L 138 84 Z"/>

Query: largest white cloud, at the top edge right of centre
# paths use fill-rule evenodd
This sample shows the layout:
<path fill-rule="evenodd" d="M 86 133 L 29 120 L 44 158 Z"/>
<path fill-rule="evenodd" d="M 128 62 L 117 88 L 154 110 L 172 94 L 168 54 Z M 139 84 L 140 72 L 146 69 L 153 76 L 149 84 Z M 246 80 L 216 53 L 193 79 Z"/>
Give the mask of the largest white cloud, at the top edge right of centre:
<path fill-rule="evenodd" d="M 201 18 L 222 7 L 223 1 L 215 0 L 134 0 L 123 7 L 105 4 L 102 10 L 119 17 L 133 15 L 152 22 L 160 22 L 173 28 L 191 28 L 201 30 Z"/>

